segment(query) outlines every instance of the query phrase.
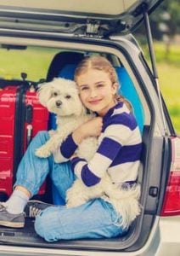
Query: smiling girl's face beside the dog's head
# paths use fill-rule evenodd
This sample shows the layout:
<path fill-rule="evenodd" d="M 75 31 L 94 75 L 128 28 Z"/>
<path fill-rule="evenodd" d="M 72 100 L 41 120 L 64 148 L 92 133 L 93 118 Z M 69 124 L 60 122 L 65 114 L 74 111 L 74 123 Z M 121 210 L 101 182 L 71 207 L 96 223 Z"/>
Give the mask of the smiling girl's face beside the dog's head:
<path fill-rule="evenodd" d="M 88 69 L 76 78 L 80 97 L 84 106 L 99 116 L 104 116 L 115 106 L 117 84 L 112 84 L 109 73 Z"/>

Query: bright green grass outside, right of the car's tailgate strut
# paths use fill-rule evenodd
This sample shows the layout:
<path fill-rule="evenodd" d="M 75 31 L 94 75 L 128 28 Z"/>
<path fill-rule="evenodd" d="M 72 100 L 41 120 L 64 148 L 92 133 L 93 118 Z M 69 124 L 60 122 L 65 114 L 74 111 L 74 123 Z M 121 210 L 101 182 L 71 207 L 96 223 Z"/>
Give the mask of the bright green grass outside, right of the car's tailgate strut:
<path fill-rule="evenodd" d="M 180 134 L 180 45 L 172 45 L 168 55 L 166 55 L 165 44 L 156 42 L 154 46 L 160 90 L 171 114 L 172 123 L 177 133 Z M 150 63 L 146 46 L 143 47 L 143 52 Z"/>

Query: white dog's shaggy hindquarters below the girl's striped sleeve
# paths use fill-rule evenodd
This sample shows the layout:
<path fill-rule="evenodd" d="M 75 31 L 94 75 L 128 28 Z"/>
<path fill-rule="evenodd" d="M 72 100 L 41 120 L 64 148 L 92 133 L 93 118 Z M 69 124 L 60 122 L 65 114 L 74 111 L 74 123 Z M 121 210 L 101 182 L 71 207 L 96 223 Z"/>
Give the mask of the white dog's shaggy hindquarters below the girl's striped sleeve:
<path fill-rule="evenodd" d="M 112 183 L 110 176 L 105 174 L 100 183 L 87 187 L 79 179 L 76 179 L 73 186 L 66 194 L 67 207 L 78 207 L 93 198 L 102 197 L 109 201 L 118 213 L 116 224 L 128 228 L 132 221 L 141 212 L 138 202 L 140 196 L 140 185 L 123 188 Z"/>

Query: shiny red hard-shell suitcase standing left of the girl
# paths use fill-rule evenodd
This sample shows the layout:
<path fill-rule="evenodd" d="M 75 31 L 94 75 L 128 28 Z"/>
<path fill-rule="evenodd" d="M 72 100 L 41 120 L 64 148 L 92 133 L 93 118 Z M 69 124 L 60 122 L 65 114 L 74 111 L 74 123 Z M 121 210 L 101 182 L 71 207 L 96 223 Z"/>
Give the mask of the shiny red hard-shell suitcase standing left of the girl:
<path fill-rule="evenodd" d="M 48 111 L 38 102 L 33 86 L 0 89 L 0 201 L 12 193 L 17 167 L 31 138 L 47 129 Z M 45 187 L 43 183 L 39 195 Z"/>

